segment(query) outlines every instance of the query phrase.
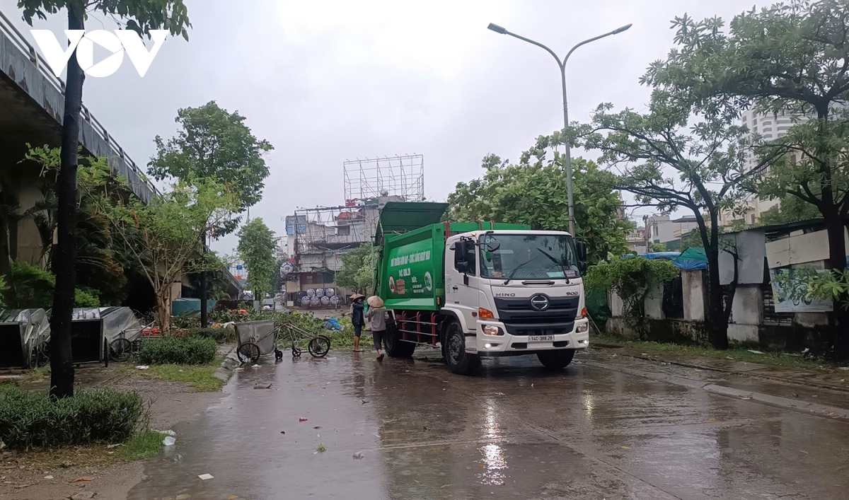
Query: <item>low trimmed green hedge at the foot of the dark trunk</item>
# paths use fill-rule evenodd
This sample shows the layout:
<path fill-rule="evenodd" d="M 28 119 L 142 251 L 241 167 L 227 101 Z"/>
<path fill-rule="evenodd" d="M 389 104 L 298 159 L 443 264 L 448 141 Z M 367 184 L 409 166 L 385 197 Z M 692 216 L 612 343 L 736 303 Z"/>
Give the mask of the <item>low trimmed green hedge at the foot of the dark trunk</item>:
<path fill-rule="evenodd" d="M 56 402 L 17 388 L 0 394 L 0 440 L 13 450 L 123 442 L 147 424 L 147 417 L 135 392 L 77 390 Z"/>

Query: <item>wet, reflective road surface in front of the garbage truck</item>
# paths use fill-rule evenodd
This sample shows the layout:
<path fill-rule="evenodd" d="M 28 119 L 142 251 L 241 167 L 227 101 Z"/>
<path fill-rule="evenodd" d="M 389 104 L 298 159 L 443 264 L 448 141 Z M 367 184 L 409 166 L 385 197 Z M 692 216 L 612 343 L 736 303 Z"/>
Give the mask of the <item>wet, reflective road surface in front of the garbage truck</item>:
<path fill-rule="evenodd" d="M 128 498 L 849 497 L 849 423 L 616 363 L 730 384 L 726 374 L 598 361 L 578 355 L 552 374 L 536 357 L 501 358 L 468 378 L 366 353 L 266 360 L 175 427 L 177 446 L 145 464 Z"/>

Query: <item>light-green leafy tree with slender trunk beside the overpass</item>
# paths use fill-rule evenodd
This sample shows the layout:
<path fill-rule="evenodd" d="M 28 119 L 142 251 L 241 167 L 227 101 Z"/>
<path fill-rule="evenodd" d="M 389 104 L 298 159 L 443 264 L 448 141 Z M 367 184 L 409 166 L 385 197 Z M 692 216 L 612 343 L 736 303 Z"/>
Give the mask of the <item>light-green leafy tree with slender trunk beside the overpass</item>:
<path fill-rule="evenodd" d="M 228 189 L 211 179 L 180 181 L 148 205 L 120 193 L 88 194 L 110 221 L 115 239 L 148 278 L 156 294 L 160 328 L 171 323 L 171 288 L 183 276 L 222 267 L 203 253 L 204 235 L 238 210 Z"/>

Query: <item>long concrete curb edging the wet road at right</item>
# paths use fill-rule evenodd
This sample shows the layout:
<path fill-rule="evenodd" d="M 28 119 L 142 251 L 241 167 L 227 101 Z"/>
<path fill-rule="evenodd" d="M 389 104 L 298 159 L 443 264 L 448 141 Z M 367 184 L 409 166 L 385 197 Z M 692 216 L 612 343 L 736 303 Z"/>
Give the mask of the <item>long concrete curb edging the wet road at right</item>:
<path fill-rule="evenodd" d="M 734 397 L 737 399 L 752 400 L 762 402 L 769 406 L 785 408 L 801 413 L 813 413 L 821 417 L 829 417 L 831 419 L 847 419 L 849 420 L 849 410 L 839 407 L 829 407 L 815 402 L 804 402 L 797 399 L 787 397 L 770 396 L 761 392 L 751 392 L 750 390 L 739 390 L 723 385 L 712 384 L 711 382 L 703 382 L 700 380 L 685 379 L 676 375 L 658 374 L 655 372 L 646 372 L 635 368 L 616 367 L 609 364 L 596 361 L 584 361 L 583 364 L 594 366 L 596 368 L 606 368 L 623 374 L 635 375 L 644 379 L 658 380 L 673 385 L 681 385 L 688 389 L 705 390 L 719 396 Z"/>

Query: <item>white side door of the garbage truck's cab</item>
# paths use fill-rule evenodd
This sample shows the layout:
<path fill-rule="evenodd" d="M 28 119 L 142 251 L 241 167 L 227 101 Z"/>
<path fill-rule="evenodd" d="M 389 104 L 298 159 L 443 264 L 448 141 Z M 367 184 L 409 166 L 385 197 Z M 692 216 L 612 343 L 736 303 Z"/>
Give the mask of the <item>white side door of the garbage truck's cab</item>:
<path fill-rule="evenodd" d="M 477 247 L 474 241 L 457 240 L 446 259 L 446 306 L 462 312 L 466 331 L 475 333 L 478 313 Z"/>

